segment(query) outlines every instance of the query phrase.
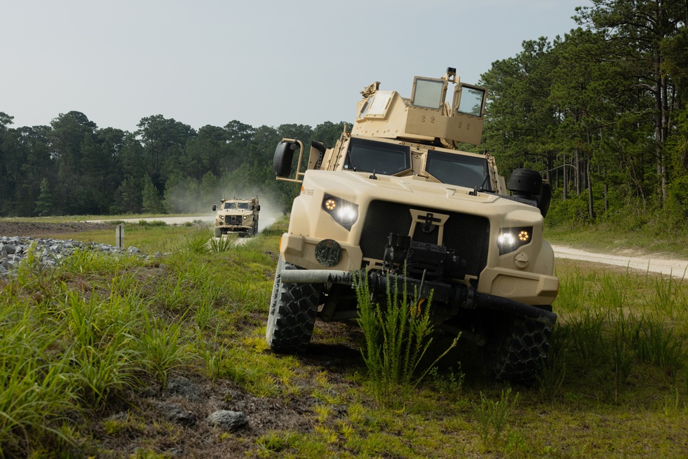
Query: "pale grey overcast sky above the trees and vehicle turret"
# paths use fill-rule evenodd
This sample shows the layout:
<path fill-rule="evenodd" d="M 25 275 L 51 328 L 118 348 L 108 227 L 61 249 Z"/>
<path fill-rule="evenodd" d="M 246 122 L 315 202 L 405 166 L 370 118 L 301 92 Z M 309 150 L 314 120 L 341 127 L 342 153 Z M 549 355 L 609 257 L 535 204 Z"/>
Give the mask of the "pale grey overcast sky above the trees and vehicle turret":
<path fill-rule="evenodd" d="M 81 111 L 127 131 L 352 121 L 359 92 L 411 95 L 455 67 L 477 83 L 590 0 L 0 0 L 0 111 L 12 127 Z"/>

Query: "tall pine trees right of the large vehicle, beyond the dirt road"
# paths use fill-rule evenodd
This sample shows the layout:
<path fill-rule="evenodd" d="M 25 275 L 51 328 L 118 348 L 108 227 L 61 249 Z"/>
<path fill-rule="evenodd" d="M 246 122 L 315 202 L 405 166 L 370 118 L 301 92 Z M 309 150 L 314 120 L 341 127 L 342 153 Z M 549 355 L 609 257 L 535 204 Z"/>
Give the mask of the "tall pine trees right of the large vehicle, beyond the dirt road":
<path fill-rule="evenodd" d="M 592 0 L 574 19 L 482 75 L 480 151 L 548 178 L 552 224 L 688 228 L 688 2 Z"/>

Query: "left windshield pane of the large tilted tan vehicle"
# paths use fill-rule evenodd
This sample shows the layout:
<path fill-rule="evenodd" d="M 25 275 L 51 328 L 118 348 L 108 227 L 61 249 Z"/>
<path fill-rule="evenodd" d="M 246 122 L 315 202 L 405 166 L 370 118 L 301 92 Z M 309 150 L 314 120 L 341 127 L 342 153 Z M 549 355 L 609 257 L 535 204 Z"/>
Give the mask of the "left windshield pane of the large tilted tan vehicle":
<path fill-rule="evenodd" d="M 394 175 L 411 169 L 411 151 L 407 145 L 352 138 L 344 169 Z"/>

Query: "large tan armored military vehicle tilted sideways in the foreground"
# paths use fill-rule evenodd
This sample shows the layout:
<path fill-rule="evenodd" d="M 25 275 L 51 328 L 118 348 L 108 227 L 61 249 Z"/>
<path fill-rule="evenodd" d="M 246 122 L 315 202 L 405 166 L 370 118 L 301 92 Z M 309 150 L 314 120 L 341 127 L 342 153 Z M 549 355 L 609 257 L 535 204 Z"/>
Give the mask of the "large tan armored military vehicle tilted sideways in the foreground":
<path fill-rule="evenodd" d="M 548 350 L 559 280 L 543 239 L 551 190 L 517 169 L 507 186 L 491 156 L 457 149 L 482 135 L 485 89 L 416 76 L 411 97 L 365 88 L 356 121 L 333 148 L 283 139 L 275 175 L 301 182 L 280 243 L 266 339 L 305 350 L 316 318 L 358 316 L 352 288 L 432 292 L 436 328 L 484 351 L 499 379 L 529 383 Z M 296 171 L 292 159 L 298 152 Z M 399 287 L 397 287 L 399 288 Z"/>

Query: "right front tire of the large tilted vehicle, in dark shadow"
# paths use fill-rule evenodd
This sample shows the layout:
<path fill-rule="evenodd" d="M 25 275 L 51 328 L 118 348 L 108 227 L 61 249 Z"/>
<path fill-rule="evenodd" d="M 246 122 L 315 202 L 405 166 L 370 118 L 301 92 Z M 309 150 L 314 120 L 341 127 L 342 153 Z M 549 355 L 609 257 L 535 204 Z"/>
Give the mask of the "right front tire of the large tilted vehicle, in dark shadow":
<path fill-rule="evenodd" d="M 547 356 L 551 336 L 544 323 L 504 318 L 484 348 L 486 366 L 499 381 L 530 385 Z"/>

